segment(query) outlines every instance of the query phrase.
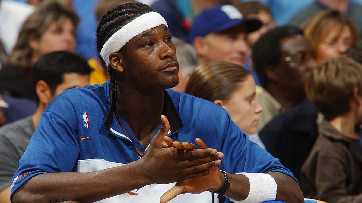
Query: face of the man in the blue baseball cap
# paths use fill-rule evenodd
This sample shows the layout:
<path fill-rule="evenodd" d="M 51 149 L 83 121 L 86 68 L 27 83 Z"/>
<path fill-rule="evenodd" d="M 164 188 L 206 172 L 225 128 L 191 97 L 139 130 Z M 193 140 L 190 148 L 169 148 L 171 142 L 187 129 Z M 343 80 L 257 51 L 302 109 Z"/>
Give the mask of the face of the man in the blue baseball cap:
<path fill-rule="evenodd" d="M 246 54 L 250 52 L 245 37 L 244 28 L 240 26 L 219 33 L 210 33 L 204 38 L 202 55 L 207 61 L 218 60 L 243 65 Z"/>

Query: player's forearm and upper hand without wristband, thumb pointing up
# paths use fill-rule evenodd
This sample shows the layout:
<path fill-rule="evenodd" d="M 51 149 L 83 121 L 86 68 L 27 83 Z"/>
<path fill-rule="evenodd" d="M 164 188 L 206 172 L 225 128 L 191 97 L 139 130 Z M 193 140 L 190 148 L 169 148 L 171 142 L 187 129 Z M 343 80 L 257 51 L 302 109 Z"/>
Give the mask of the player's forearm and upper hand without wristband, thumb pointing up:
<path fill-rule="evenodd" d="M 205 176 L 210 168 L 221 164 L 219 158 L 223 154 L 215 149 L 180 150 L 168 146 L 164 137 L 169 123 L 165 116 L 161 119 L 163 125 L 141 159 L 89 173 L 39 174 L 17 190 L 13 202 L 96 202 L 153 183 L 166 184 Z"/>

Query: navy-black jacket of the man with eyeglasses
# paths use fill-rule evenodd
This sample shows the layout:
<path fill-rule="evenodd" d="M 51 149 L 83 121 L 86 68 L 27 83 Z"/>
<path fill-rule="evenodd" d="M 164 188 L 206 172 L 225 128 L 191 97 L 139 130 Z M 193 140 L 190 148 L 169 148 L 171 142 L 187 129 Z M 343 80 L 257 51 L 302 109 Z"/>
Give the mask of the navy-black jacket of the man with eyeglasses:
<path fill-rule="evenodd" d="M 261 141 L 271 155 L 299 180 L 300 168 L 318 135 L 317 110 L 308 99 L 275 116 L 260 131 Z"/>

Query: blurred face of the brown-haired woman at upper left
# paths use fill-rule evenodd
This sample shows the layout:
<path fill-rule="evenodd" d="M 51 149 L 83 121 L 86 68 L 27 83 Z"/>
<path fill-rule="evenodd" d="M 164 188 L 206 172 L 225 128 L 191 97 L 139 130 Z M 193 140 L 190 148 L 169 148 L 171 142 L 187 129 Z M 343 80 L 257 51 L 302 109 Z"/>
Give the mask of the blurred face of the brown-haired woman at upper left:
<path fill-rule="evenodd" d="M 76 47 L 75 26 L 70 19 L 65 19 L 62 25 L 52 22 L 39 39 L 31 39 L 29 45 L 33 48 L 34 61 L 45 53 L 54 51 L 74 52 Z"/>

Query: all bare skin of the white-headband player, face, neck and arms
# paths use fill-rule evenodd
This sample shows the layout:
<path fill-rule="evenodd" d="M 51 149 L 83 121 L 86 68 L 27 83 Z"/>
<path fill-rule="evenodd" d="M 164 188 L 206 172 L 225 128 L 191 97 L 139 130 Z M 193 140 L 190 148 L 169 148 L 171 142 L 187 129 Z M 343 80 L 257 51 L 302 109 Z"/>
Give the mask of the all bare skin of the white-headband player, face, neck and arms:
<path fill-rule="evenodd" d="M 178 194 L 216 191 L 223 186 L 223 174 L 216 167 L 221 164 L 219 159 L 223 157 L 222 153 L 207 148 L 200 139 L 195 141 L 199 147 L 197 149 L 194 144 L 173 142 L 166 136 L 169 124 L 167 118 L 162 116 L 163 89 L 173 87 L 178 82 L 176 49 L 170 37 L 167 27 L 160 25 L 131 39 L 126 44 L 125 53 L 110 54 L 110 64 L 117 80 L 117 108 L 143 146 L 151 141 L 160 118 L 163 121 L 145 156 L 120 167 L 96 172 L 40 174 L 25 183 L 14 199 L 18 200 L 21 196 L 24 198 L 21 201 L 25 202 L 29 201 L 29 194 L 43 193 L 43 196 L 35 197 L 52 198 L 30 199 L 30 202 L 62 199 L 92 202 L 152 183 L 177 182 L 161 197 L 160 202 L 164 203 Z M 198 161 L 202 164 L 197 164 Z M 145 168 L 146 163 L 151 167 Z M 289 203 L 303 201 L 302 191 L 290 176 L 278 172 L 269 174 L 278 185 L 277 200 Z M 248 178 L 241 174 L 228 173 L 228 176 L 230 189 L 225 196 L 235 200 L 245 199 L 249 194 Z M 134 181 L 127 181 L 130 179 Z M 82 190 L 79 191 L 79 188 Z"/>

